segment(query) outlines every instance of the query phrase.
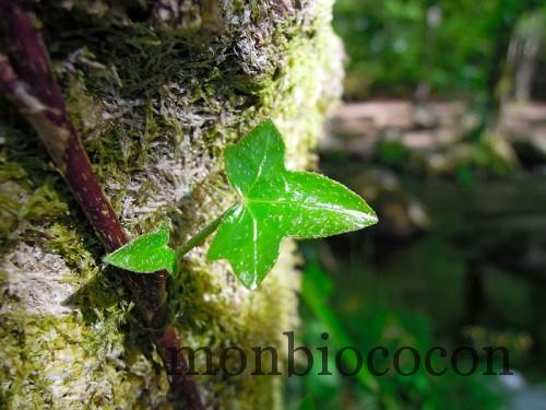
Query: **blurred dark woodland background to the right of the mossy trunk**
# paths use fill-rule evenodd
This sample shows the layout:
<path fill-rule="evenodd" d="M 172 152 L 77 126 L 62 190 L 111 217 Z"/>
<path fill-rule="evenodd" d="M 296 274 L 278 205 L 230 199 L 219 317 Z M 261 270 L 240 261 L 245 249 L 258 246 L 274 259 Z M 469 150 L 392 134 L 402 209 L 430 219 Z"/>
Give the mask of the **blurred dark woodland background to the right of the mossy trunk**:
<path fill-rule="evenodd" d="M 514 375 L 312 372 L 289 408 L 546 409 L 546 2 L 337 0 L 334 26 L 320 167 L 380 223 L 302 243 L 299 342 L 331 367 L 346 345 L 502 345 Z"/>

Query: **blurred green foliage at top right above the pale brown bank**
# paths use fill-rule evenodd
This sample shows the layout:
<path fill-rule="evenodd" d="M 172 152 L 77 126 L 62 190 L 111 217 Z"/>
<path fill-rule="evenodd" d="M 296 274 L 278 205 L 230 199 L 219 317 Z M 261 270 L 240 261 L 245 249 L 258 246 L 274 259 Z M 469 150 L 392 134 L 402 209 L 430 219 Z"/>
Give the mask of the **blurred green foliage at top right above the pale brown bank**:
<path fill-rule="evenodd" d="M 520 16 L 541 0 L 337 0 L 334 27 L 348 55 L 349 98 L 494 93 Z"/>

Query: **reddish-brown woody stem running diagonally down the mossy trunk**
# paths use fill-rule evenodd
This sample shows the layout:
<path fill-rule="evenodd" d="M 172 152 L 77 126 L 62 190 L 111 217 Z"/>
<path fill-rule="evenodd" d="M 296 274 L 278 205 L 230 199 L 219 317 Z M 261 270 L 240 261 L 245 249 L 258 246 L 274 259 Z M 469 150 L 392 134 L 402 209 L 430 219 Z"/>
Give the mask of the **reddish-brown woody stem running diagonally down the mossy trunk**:
<path fill-rule="evenodd" d="M 41 36 L 17 1 L 0 0 L 0 15 L 9 52 L 9 58 L 0 54 L 0 91 L 33 125 L 106 250 L 112 251 L 128 237 L 67 114 Z M 190 409 L 204 409 L 194 382 L 187 375 L 175 329 L 165 325 L 167 272 L 122 274 L 146 326 L 157 329 L 153 336 L 171 388 L 183 395 Z"/>

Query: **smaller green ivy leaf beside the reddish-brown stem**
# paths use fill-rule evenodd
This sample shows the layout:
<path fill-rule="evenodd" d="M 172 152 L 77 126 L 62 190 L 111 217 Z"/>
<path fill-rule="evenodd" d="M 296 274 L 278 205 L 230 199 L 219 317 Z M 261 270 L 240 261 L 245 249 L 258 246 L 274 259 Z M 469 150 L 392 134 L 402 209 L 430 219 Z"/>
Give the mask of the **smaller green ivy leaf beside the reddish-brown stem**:
<path fill-rule="evenodd" d="M 163 223 L 155 232 L 138 236 L 129 244 L 108 254 L 103 261 L 136 273 L 153 273 L 167 270 L 176 274 L 178 261 L 175 251 L 168 247 L 169 230 Z"/>

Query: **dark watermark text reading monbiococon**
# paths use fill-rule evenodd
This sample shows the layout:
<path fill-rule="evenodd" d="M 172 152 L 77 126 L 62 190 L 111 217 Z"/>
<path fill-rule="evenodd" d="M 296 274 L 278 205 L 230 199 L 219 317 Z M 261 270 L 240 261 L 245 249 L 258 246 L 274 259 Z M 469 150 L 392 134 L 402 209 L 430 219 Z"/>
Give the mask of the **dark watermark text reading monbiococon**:
<path fill-rule="evenodd" d="M 210 347 L 189 348 L 183 347 L 171 352 L 171 360 L 176 361 L 177 354 L 182 352 L 188 359 L 188 375 L 216 375 L 222 373 L 226 376 L 238 376 L 250 371 L 253 376 L 307 376 L 316 371 L 319 376 L 330 376 L 337 372 L 342 376 L 355 376 L 359 372 L 367 371 L 373 376 L 387 376 L 397 374 L 401 376 L 413 376 L 420 370 L 431 376 L 442 376 L 452 372 L 459 376 L 471 376 L 480 372 L 484 376 L 512 375 L 510 371 L 509 351 L 505 347 L 483 347 L 479 350 L 461 345 L 446 349 L 434 345 L 426 351 L 418 351 L 411 345 L 402 345 L 390 350 L 377 345 L 370 349 L 358 349 L 356 347 L 344 347 L 335 350 L 335 365 L 332 366 L 329 355 L 333 350 L 328 345 L 329 333 L 321 333 L 325 345 L 308 348 L 295 345 L 294 331 L 285 331 L 286 352 L 282 352 L 283 367 L 281 373 L 277 349 L 274 347 L 252 347 L 242 349 L 229 345 L 224 349 L 213 350 Z M 215 356 L 216 354 L 216 356 Z M 200 355 L 200 356 L 199 356 Z M 483 368 L 478 371 L 483 360 Z M 200 366 L 195 362 L 199 359 Z M 297 365 L 296 365 L 297 362 Z M 496 365 L 500 363 L 500 370 Z M 335 367 L 335 368 L 330 368 Z M 171 363 L 170 368 L 179 368 L 177 363 Z"/>

